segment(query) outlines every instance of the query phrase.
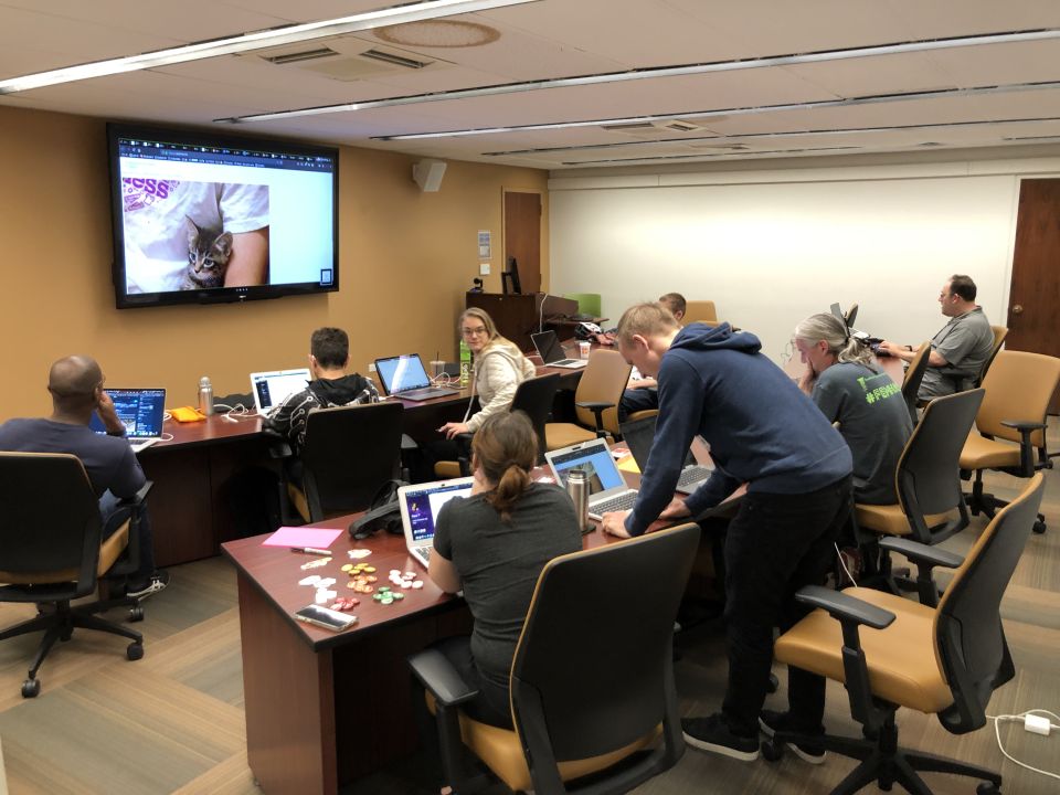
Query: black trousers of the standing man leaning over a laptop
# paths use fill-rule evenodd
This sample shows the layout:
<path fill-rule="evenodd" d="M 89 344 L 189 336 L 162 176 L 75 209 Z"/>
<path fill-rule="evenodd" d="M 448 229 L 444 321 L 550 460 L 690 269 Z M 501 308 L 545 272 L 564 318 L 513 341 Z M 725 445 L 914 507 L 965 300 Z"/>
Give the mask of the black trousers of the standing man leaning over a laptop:
<path fill-rule="evenodd" d="M 748 492 L 729 526 L 729 688 L 722 712 L 734 734 L 756 734 L 773 662 L 773 627 L 784 632 L 809 613 L 794 594 L 824 582 L 849 506 L 849 477 L 809 494 Z M 789 667 L 787 698 L 792 728 L 820 731 L 824 678 Z"/>

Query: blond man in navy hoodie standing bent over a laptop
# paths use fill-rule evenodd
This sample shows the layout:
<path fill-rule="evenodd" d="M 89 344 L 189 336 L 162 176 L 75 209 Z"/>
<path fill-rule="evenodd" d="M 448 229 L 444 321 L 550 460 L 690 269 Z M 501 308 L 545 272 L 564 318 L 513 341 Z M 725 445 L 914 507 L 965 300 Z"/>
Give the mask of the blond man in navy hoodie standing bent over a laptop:
<path fill-rule="evenodd" d="M 742 484 L 748 494 L 725 539 L 729 685 L 721 712 L 683 721 L 690 745 L 733 759 L 759 756 L 759 728 L 822 734 L 825 682 L 788 670 L 788 712 L 762 711 L 773 661 L 773 627 L 806 614 L 794 593 L 819 584 L 849 513 L 850 449 L 820 411 L 761 352 L 757 337 L 691 324 L 680 328 L 657 304 L 630 307 L 618 350 L 659 384 L 651 455 L 632 511 L 605 513 L 615 536 L 639 536 L 657 519 L 672 522 L 721 502 Z M 687 499 L 674 489 L 692 437 L 710 444 L 716 469 Z M 794 749 L 822 762 L 815 745 Z"/>

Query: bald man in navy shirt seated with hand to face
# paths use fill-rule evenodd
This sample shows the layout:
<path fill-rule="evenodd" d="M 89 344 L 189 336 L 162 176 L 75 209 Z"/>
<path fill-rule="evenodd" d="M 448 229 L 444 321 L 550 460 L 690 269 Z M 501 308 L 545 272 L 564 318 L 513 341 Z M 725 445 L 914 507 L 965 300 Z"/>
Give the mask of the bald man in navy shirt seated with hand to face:
<path fill-rule="evenodd" d="M 125 426 L 103 391 L 103 371 L 94 359 L 71 356 L 52 364 L 47 391 L 52 415 L 36 420 L 9 420 L 0 425 L 0 451 L 11 453 L 68 453 L 77 456 L 99 498 L 103 538 L 114 534 L 129 516 L 119 500 L 132 497 L 147 478 L 125 438 Z M 93 412 L 107 434 L 88 427 Z M 169 572 L 155 571 L 155 548 L 145 512 L 139 521 L 140 566 L 129 575 L 127 595 L 145 598 L 169 583 Z"/>

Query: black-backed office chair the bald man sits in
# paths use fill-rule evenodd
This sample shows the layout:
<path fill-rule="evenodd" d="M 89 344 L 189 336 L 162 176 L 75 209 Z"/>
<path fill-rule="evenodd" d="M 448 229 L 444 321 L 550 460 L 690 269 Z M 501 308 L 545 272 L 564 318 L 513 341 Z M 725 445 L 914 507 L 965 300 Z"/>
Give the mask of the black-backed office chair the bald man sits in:
<path fill-rule="evenodd" d="M 0 602 L 36 604 L 39 614 L 0 632 L 0 640 L 44 630 L 22 682 L 22 696 L 41 691 L 36 672 L 56 640 L 74 629 L 97 629 L 129 638 L 126 656 L 144 656 L 140 633 L 97 617 L 119 605 L 142 618 L 129 596 L 71 606 L 95 592 L 103 576 L 123 576 L 139 566 L 137 523 L 145 510 L 148 483 L 131 500 L 130 516 L 106 541 L 99 502 L 76 456 L 51 453 L 0 453 Z"/>

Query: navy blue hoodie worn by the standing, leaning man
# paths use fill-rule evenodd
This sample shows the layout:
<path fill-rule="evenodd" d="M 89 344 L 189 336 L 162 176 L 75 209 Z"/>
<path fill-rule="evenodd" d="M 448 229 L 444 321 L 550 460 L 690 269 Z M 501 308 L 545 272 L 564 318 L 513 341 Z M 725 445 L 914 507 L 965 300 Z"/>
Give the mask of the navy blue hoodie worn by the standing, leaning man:
<path fill-rule="evenodd" d="M 795 382 L 761 353 L 759 338 L 691 324 L 659 365 L 659 418 L 626 530 L 639 536 L 669 504 L 685 454 L 699 434 L 714 473 L 686 500 L 692 516 L 741 484 L 805 494 L 849 475 L 850 448 Z"/>

